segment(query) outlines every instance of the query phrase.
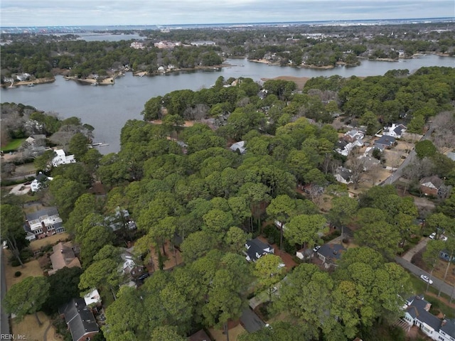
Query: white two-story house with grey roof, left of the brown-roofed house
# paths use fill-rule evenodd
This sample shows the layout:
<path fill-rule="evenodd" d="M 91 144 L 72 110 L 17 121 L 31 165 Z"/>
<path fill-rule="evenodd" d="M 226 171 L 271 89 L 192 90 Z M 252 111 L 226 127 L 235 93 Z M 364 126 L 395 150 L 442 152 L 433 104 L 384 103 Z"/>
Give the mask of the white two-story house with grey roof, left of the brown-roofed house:
<path fill-rule="evenodd" d="M 58 214 L 57 207 L 47 207 L 43 210 L 26 214 L 24 229 L 30 233 L 26 237 L 28 240 L 41 239 L 52 234 L 65 232 L 63 220 Z M 34 238 L 31 238 L 32 235 Z"/>

